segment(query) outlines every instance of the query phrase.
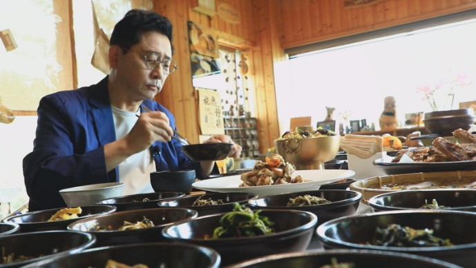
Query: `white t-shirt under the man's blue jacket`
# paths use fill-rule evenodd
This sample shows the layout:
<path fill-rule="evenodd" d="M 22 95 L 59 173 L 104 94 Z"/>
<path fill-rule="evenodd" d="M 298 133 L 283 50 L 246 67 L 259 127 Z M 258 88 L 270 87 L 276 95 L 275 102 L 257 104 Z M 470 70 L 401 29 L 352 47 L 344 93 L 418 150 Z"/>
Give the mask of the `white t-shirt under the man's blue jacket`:
<path fill-rule="evenodd" d="M 115 136 L 117 139 L 123 138 L 131 132 L 132 127 L 137 122 L 137 116 L 140 115 L 140 110 L 128 112 L 113 105 L 111 105 L 111 108 L 113 110 Z M 154 192 L 150 174 L 155 171 L 155 163 L 150 150 L 133 154 L 122 161 L 119 164 L 119 181 L 124 183 L 122 195 Z"/>

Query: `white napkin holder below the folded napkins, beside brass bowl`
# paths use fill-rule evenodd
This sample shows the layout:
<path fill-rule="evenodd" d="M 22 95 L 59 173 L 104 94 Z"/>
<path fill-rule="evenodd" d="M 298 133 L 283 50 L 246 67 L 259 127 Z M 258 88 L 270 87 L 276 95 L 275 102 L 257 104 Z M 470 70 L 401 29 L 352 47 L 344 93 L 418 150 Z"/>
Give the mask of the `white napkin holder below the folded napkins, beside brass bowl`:
<path fill-rule="evenodd" d="M 355 172 L 351 178 L 356 180 L 371 178 L 374 176 L 387 176 L 382 169 L 374 165 L 374 161 L 380 158 L 391 158 L 387 152 L 377 152 L 368 158 L 361 158 L 355 154 L 347 154 L 349 169 Z"/>

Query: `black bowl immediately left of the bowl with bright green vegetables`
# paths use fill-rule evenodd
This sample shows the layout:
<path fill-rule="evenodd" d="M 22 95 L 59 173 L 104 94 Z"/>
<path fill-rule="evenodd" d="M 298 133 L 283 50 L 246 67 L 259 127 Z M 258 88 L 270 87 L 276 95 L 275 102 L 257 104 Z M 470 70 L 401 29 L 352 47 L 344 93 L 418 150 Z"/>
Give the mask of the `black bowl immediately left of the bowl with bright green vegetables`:
<path fill-rule="evenodd" d="M 161 242 L 162 229 L 166 225 L 171 225 L 179 220 L 196 218 L 198 212 L 192 209 L 183 209 L 180 207 L 156 208 L 156 209 L 137 209 L 127 210 L 125 212 L 114 212 L 102 216 L 94 216 L 84 220 L 77 220 L 68 225 L 68 230 L 86 231 L 94 234 L 97 238 L 95 247 L 121 245 L 130 243 L 152 243 Z M 118 231 L 124 221 L 137 223 L 146 217 L 152 220 L 154 226 L 144 229 L 128 229 Z M 96 226 L 107 226 L 111 231 L 91 231 Z"/>

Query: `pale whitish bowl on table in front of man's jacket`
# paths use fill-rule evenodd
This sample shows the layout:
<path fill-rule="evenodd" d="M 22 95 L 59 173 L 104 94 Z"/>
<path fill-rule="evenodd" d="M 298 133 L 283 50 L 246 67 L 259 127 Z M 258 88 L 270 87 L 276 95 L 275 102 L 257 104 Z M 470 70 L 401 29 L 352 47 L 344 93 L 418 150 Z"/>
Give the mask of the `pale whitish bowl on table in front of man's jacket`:
<path fill-rule="evenodd" d="M 97 183 L 59 190 L 68 207 L 96 205 L 96 202 L 122 194 L 124 183 Z"/>

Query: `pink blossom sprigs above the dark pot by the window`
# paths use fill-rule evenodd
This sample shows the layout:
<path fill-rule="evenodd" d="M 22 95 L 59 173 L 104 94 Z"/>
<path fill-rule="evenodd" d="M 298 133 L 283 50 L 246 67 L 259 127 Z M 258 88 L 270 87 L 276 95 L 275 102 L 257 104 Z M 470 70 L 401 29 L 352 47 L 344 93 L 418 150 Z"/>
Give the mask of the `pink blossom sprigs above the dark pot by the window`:
<path fill-rule="evenodd" d="M 434 85 L 423 84 L 417 87 L 417 93 L 423 94 L 432 111 L 452 110 L 455 100 L 455 89 L 470 85 L 466 74 L 457 74 L 453 79 L 441 79 Z"/>

